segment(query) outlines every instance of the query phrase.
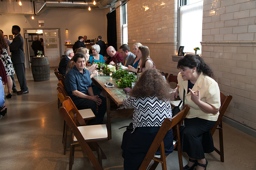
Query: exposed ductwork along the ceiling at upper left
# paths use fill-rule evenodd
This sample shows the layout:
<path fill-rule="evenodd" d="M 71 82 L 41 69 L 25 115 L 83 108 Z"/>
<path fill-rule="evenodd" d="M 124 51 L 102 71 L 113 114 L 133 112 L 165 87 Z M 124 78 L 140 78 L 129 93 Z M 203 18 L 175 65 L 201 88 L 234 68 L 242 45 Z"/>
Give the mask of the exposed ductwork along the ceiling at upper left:
<path fill-rule="evenodd" d="M 93 0 L 22 0 L 22 6 L 20 6 L 16 0 L 2 0 L 0 1 L 0 14 L 4 15 L 41 15 L 47 9 L 86 9 L 90 8 L 106 8 L 109 7 L 116 0 L 97 0 L 96 5 L 93 5 Z"/>

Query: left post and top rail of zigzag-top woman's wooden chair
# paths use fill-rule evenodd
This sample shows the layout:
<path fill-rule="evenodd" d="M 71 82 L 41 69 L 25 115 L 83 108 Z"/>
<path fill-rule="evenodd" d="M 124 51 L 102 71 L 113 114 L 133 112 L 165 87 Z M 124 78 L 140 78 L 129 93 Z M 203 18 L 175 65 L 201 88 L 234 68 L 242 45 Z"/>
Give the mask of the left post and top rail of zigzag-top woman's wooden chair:
<path fill-rule="evenodd" d="M 165 138 L 166 133 L 173 128 L 175 125 L 179 126 L 179 122 L 181 121 L 184 114 L 187 114 L 190 107 L 186 104 L 183 109 L 177 113 L 173 118 L 166 118 L 159 131 L 156 134 L 155 139 L 153 140 L 150 149 L 148 150 L 143 162 L 139 168 L 139 170 L 146 170 L 148 165 L 150 164 L 152 158 L 154 157 L 157 149 L 160 147 L 160 143 L 162 142 L 163 138 Z M 175 123 L 174 123 L 175 122 Z"/>

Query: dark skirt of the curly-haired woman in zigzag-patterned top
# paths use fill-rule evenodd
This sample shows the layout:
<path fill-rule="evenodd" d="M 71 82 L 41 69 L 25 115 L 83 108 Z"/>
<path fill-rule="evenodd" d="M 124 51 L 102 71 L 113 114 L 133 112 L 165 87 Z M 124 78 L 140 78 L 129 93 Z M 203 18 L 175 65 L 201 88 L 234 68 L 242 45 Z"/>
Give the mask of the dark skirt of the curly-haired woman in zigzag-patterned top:
<path fill-rule="evenodd" d="M 125 170 L 138 170 L 140 168 L 140 165 L 157 134 L 157 132 L 145 133 L 145 129 L 152 130 L 152 128 L 156 127 L 141 127 L 141 130 L 140 128 L 136 128 L 133 133 L 131 133 L 132 130 L 126 130 L 124 132 L 121 148 L 123 150 L 122 156 L 124 158 Z M 170 154 L 173 151 L 172 129 L 167 132 L 163 139 L 163 143 L 165 145 L 165 154 Z M 159 149 L 156 154 L 160 155 Z"/>

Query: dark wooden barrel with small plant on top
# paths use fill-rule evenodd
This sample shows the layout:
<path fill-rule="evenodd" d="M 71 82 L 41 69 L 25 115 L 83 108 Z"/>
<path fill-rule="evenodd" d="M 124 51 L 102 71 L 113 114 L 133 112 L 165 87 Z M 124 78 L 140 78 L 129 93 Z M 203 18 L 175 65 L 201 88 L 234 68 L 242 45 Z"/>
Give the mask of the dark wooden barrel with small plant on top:
<path fill-rule="evenodd" d="M 31 68 L 35 82 L 50 80 L 50 65 L 47 57 L 32 57 Z"/>

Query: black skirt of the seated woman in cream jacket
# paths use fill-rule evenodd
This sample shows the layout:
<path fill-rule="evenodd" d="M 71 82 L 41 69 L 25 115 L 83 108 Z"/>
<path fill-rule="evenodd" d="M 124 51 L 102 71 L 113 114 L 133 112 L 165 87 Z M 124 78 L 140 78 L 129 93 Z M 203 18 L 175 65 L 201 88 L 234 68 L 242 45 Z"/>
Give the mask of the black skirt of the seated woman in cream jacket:
<path fill-rule="evenodd" d="M 185 119 L 185 127 L 180 128 L 181 149 L 190 158 L 203 159 L 204 153 L 214 151 L 210 130 L 216 121 L 201 118 Z"/>

